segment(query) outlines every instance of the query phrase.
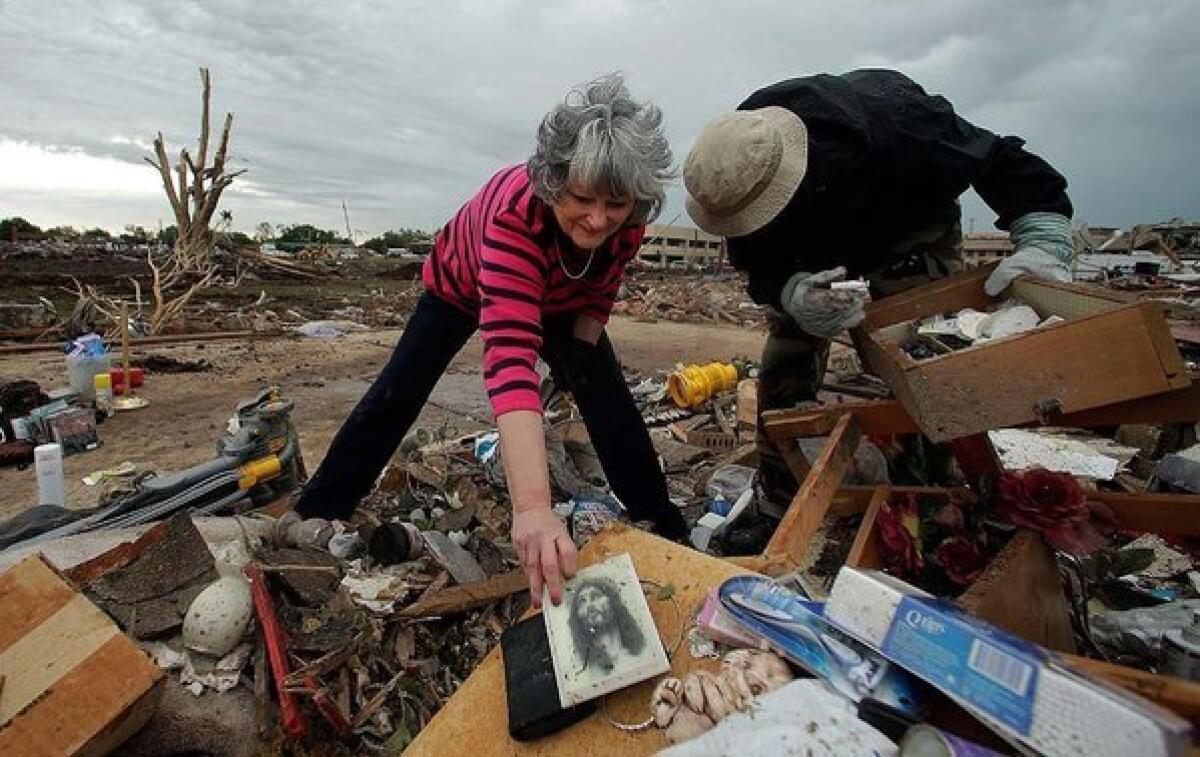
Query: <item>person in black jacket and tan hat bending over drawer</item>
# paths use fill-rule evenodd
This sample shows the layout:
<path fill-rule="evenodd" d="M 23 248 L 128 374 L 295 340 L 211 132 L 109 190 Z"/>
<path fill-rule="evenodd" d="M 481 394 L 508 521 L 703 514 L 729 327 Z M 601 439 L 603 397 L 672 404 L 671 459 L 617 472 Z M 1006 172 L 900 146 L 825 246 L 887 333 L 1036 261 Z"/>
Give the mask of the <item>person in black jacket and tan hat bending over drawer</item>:
<path fill-rule="evenodd" d="M 780 82 L 704 127 L 684 163 L 688 214 L 727 238 L 750 296 L 773 308 L 760 413 L 815 399 L 829 340 L 862 320 L 862 295 L 833 282 L 860 276 L 881 298 L 961 270 L 968 187 L 1014 246 L 989 294 L 1026 274 L 1070 280 L 1067 180 L 1024 144 L 883 70 Z M 761 423 L 758 447 L 778 511 L 796 483 Z"/>

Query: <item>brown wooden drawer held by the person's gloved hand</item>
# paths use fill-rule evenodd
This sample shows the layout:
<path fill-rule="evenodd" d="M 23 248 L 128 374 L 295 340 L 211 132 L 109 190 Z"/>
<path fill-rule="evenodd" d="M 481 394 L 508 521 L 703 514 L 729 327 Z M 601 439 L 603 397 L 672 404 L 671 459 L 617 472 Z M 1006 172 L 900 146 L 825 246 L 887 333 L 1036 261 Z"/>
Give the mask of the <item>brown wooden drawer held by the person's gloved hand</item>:
<path fill-rule="evenodd" d="M 1006 294 L 1064 322 L 928 360 L 900 349 L 925 317 L 995 305 L 983 290 L 990 272 L 966 271 L 872 302 L 852 332 L 864 362 L 930 439 L 1032 423 L 1040 408 L 1075 413 L 1190 383 L 1160 305 L 1032 278 Z"/>

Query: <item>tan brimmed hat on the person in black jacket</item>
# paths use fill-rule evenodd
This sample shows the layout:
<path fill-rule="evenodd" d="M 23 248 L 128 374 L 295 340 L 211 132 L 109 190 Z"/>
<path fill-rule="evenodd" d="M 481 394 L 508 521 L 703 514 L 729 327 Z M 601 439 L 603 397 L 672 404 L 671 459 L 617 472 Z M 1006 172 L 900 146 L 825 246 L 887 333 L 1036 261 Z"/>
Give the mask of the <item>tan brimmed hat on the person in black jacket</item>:
<path fill-rule="evenodd" d="M 709 234 L 745 236 L 787 206 L 808 167 L 808 131 L 787 108 L 719 115 L 683 164 L 688 215 Z"/>

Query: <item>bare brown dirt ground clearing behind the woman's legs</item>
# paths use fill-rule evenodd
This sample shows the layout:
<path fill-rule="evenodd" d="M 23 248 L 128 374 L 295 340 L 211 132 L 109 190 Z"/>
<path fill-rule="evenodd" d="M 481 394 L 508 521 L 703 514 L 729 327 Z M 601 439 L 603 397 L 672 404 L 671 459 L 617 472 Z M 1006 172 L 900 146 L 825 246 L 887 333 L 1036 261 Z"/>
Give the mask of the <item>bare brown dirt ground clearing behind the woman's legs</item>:
<path fill-rule="evenodd" d="M 206 373 L 148 374 L 138 393 L 140 410 L 121 413 L 100 427 L 101 446 L 66 458 L 67 503 L 92 506 L 98 491 L 82 477 L 125 461 L 168 471 L 211 459 L 215 443 L 234 405 L 258 389 L 278 385 L 295 402 L 293 417 L 310 471 L 324 456 L 334 433 L 386 361 L 398 330 L 374 330 L 337 340 L 270 337 L 146 348 L 179 360 L 206 360 Z M 758 359 L 766 335 L 734 326 L 642 323 L 614 318 L 610 335 L 629 368 L 653 373 L 676 362 Z M 449 423 L 456 433 L 490 425 L 491 410 L 480 377 L 481 346 L 468 343 L 437 385 L 419 425 Z M 6 355 L 0 378 L 34 379 L 43 387 L 66 383 L 62 355 Z M 0 469 L 0 519 L 36 504 L 32 468 Z"/>

